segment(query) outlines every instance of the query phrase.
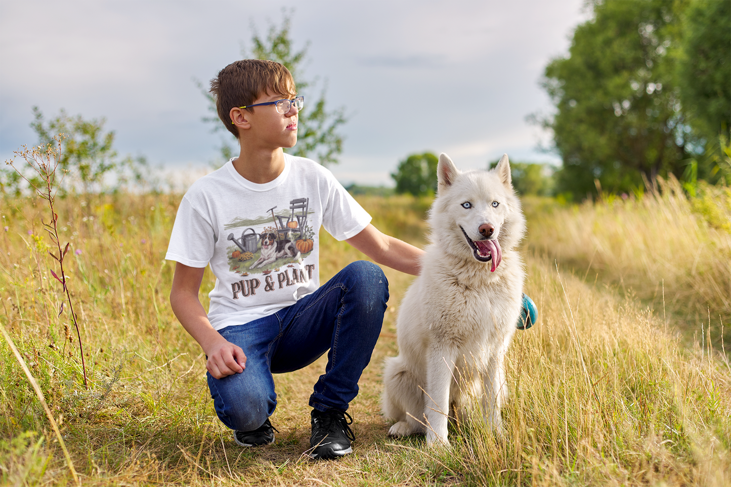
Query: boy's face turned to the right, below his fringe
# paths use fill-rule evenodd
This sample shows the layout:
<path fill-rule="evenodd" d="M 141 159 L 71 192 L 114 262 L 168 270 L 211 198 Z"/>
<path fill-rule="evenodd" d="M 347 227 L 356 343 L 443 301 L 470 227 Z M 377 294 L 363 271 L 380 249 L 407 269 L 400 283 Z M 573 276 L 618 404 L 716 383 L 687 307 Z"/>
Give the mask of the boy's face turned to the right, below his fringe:
<path fill-rule="evenodd" d="M 294 97 L 265 93 L 254 100 L 251 105 L 289 98 Z M 249 128 L 239 127 L 239 133 L 248 132 L 244 137 L 248 139 L 249 143 L 253 142 L 262 148 L 294 147 L 297 143 L 299 112 L 294 104 L 287 113 L 279 113 L 275 105 L 255 107 L 253 113 L 249 110 L 242 110 L 242 113 L 243 118 L 249 123 Z"/>

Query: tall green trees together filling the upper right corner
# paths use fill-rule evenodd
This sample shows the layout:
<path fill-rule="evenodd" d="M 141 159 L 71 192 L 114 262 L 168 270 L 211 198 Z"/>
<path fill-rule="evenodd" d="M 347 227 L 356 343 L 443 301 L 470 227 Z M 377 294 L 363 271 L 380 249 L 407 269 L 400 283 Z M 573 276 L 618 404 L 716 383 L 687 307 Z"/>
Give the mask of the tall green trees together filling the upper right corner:
<path fill-rule="evenodd" d="M 563 159 L 556 192 L 641 191 L 670 174 L 689 190 L 698 179 L 731 184 L 731 2 L 589 6 L 542 83 L 555 111 L 539 122 Z"/>

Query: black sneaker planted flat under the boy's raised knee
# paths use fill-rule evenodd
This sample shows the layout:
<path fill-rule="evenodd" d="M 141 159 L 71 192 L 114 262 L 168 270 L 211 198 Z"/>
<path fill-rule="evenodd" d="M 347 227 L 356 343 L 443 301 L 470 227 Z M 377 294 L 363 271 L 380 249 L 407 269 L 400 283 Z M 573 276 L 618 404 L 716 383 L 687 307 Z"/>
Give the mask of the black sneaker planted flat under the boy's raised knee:
<path fill-rule="evenodd" d="M 349 424 L 353 418 L 340 409 L 327 409 L 325 412 L 312 409 L 312 436 L 310 446 L 312 458 L 339 458 L 352 453 L 350 442 L 355 440 L 355 434 Z M 348 418 L 346 420 L 345 418 Z"/>

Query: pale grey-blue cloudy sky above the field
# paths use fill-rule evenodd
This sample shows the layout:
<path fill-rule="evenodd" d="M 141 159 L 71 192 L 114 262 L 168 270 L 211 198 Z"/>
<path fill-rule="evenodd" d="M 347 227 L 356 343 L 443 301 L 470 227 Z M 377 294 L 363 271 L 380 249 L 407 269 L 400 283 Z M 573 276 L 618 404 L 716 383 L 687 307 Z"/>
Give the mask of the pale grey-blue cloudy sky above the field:
<path fill-rule="evenodd" d="M 392 185 L 408 154 L 446 152 L 458 167 L 556 162 L 526 121 L 548 113 L 545 64 L 567 52 L 583 0 L 348 2 L 67 0 L 0 2 L 0 160 L 36 141 L 31 107 L 107 119 L 121 154 L 184 173 L 218 156 L 207 82 L 294 9 L 295 47 L 310 42 L 306 78 L 327 81 L 348 123 L 345 184 Z M 317 91 L 312 95 L 317 94 Z M 309 97 L 313 99 L 314 96 Z"/>

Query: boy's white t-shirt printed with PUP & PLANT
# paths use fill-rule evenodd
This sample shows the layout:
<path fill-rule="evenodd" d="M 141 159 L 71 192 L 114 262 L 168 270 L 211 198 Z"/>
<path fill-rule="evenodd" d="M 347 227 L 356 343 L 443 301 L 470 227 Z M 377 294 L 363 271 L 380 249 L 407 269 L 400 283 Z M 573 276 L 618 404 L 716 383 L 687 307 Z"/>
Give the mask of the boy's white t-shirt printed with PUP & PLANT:
<path fill-rule="evenodd" d="M 319 228 L 345 240 L 371 216 L 321 165 L 284 154 L 265 184 L 243 178 L 231 159 L 183 196 L 167 260 L 211 264 L 216 286 L 208 320 L 216 330 L 257 320 L 319 287 Z"/>

